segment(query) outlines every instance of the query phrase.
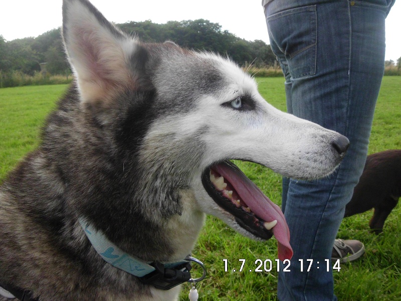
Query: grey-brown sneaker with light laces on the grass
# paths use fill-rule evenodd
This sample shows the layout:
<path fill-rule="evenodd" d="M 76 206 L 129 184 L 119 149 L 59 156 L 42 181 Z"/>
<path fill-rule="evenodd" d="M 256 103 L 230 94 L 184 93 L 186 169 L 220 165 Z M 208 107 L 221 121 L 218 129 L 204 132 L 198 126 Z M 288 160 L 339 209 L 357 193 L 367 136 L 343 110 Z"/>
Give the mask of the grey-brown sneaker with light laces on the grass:
<path fill-rule="evenodd" d="M 340 259 L 340 263 L 358 259 L 365 252 L 365 246 L 358 240 L 336 239 L 331 252 L 331 260 Z"/>

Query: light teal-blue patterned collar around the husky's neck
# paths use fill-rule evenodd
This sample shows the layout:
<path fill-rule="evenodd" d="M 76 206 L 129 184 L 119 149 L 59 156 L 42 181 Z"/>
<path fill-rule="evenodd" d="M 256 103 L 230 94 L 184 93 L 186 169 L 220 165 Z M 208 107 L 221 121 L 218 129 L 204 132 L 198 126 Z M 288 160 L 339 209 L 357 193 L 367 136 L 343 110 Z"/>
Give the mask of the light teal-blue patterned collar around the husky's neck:
<path fill-rule="evenodd" d="M 144 262 L 137 257 L 133 257 L 125 253 L 123 250 L 121 250 L 119 247 L 109 241 L 103 233 L 97 231 L 91 226 L 90 223 L 86 222 L 84 219 L 80 218 L 79 223 L 84 229 L 86 236 L 89 238 L 96 252 L 106 262 L 137 277 L 143 277 L 155 270 L 155 268 L 150 265 L 151 262 Z M 163 264 L 166 268 L 174 268 L 175 266 L 178 266 L 185 262 L 187 261 L 181 260 L 178 262 Z"/>

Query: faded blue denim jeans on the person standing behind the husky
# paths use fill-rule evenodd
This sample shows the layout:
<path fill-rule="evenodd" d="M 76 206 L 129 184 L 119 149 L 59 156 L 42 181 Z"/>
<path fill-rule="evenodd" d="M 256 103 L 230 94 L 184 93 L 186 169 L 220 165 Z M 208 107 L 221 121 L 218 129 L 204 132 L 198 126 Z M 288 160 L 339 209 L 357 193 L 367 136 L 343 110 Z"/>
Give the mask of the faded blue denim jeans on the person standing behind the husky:
<path fill-rule="evenodd" d="M 337 299 L 331 251 L 367 155 L 390 6 L 390 0 L 273 0 L 265 7 L 271 47 L 285 75 L 288 112 L 351 143 L 341 166 L 326 179 L 283 179 L 282 209 L 294 256 L 290 272 L 281 264 L 280 300 Z M 309 272 L 306 259 L 313 259 Z"/>

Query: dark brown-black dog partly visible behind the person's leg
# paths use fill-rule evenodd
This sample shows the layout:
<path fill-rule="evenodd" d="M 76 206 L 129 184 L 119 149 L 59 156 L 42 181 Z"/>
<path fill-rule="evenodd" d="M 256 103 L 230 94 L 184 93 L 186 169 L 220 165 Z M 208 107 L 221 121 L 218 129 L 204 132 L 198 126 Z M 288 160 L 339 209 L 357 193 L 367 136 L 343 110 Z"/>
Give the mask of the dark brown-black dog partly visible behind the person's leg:
<path fill-rule="evenodd" d="M 354 188 L 344 217 L 374 208 L 369 226 L 376 234 L 383 231 L 384 221 L 401 196 L 401 149 L 367 156 L 362 176 Z"/>

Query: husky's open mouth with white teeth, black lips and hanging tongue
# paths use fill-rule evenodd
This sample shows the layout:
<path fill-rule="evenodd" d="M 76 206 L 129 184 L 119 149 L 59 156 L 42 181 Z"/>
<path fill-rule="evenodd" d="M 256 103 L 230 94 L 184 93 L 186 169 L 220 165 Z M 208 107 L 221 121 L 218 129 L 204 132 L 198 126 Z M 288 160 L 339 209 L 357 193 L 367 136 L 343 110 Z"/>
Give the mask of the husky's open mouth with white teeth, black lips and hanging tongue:
<path fill-rule="evenodd" d="M 205 170 L 202 183 L 210 197 L 256 237 L 278 241 L 280 260 L 290 259 L 290 232 L 279 206 L 232 162 L 224 161 Z"/>

